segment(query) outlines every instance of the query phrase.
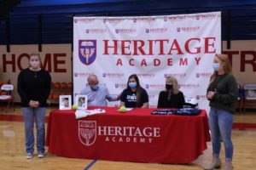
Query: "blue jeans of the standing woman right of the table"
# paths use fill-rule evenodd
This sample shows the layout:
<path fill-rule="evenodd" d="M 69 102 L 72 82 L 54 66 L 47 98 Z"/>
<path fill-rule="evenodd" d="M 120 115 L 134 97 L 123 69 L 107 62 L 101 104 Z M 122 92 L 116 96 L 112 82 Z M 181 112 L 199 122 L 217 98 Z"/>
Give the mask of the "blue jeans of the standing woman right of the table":
<path fill-rule="evenodd" d="M 221 141 L 224 142 L 225 160 L 232 161 L 233 144 L 231 141 L 233 114 L 216 107 L 211 107 L 209 123 L 212 137 L 212 156 L 219 157 Z"/>

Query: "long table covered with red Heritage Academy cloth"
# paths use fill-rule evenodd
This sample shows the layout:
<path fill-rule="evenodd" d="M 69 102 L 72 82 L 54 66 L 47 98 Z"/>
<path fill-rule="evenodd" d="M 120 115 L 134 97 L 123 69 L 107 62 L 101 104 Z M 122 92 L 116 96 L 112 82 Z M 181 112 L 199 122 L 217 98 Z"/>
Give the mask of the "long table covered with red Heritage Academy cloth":
<path fill-rule="evenodd" d="M 89 110 L 95 109 L 89 107 Z M 76 119 L 75 111 L 51 111 L 46 145 L 49 153 L 70 158 L 108 161 L 189 163 L 207 149 L 208 118 L 152 115 L 154 109 L 136 108 Z"/>

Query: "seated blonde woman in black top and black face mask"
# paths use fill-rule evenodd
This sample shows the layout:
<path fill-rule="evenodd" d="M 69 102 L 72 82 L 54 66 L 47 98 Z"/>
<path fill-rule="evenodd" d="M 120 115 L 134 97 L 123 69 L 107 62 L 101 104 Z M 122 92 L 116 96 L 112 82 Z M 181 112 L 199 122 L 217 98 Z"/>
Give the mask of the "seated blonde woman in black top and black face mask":
<path fill-rule="evenodd" d="M 177 87 L 175 77 L 166 77 L 166 90 L 159 94 L 157 108 L 183 108 L 184 95 Z"/>

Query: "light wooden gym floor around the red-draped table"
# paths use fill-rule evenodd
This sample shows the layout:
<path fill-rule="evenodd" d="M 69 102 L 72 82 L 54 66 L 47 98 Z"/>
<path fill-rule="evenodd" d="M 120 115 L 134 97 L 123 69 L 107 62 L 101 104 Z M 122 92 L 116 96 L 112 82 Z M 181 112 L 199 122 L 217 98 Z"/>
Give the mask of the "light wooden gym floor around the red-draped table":
<path fill-rule="evenodd" d="M 55 107 L 49 108 L 49 112 Z M 47 127 L 47 124 L 46 124 Z M 235 114 L 234 130 L 232 133 L 234 144 L 234 169 L 256 169 L 256 113 Z M 2 170 L 193 170 L 203 169 L 212 159 L 212 144 L 207 143 L 207 150 L 197 160 L 186 164 L 153 164 L 123 161 L 101 161 L 70 159 L 50 155 L 46 152 L 44 158 L 34 156 L 25 159 L 24 123 L 20 108 L 15 111 L 0 111 L 0 169 Z M 47 147 L 46 147 L 47 150 Z M 222 145 L 221 159 L 224 162 L 224 147 Z"/>

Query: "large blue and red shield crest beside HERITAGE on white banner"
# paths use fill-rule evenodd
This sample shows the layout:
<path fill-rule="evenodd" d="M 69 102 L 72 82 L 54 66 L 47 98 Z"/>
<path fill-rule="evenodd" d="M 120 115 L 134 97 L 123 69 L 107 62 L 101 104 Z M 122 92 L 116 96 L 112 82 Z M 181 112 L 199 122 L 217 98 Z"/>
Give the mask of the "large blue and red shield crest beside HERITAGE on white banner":
<path fill-rule="evenodd" d="M 96 40 L 79 40 L 79 59 L 84 65 L 90 65 L 95 61 Z"/>

